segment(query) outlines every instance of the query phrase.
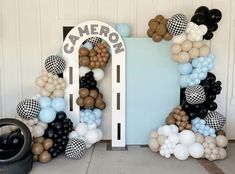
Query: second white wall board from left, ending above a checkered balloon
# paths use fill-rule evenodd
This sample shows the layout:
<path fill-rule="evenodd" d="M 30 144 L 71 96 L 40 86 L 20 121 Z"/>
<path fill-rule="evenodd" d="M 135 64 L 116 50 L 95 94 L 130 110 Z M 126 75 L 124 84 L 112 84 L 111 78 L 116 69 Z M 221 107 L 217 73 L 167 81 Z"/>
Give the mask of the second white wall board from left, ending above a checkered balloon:
<path fill-rule="evenodd" d="M 24 0 L 19 4 L 23 98 L 30 98 L 38 93 L 38 88 L 34 85 L 42 68 L 38 10 L 37 1 Z"/>

